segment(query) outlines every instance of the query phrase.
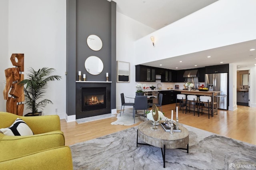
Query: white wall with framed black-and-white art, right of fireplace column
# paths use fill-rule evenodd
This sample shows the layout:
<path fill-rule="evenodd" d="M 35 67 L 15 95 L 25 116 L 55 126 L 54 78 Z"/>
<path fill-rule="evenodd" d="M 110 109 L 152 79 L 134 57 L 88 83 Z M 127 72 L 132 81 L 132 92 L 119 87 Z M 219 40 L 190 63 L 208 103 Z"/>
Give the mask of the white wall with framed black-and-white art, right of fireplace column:
<path fill-rule="evenodd" d="M 116 109 L 121 108 L 120 93 L 135 95 L 134 42 L 155 30 L 119 12 L 116 13 L 116 60 L 130 63 L 130 83 L 116 83 Z M 125 98 L 126 102 L 134 102 Z M 126 107 L 128 108 L 128 107 Z"/>

